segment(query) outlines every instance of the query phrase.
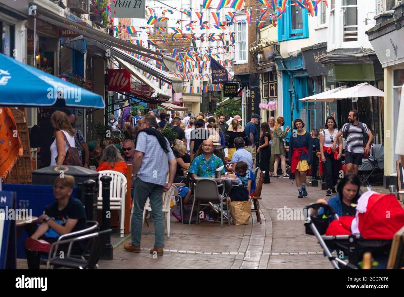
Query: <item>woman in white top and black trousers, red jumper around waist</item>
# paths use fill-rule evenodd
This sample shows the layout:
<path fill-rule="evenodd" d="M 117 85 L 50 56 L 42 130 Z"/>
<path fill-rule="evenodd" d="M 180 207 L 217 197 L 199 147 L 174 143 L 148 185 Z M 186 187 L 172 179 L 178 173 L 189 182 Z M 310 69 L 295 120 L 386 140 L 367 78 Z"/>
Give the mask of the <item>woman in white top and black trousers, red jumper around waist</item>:
<path fill-rule="evenodd" d="M 339 137 L 339 145 L 337 145 L 337 151 L 332 152 L 332 145 L 334 143 L 335 136 L 338 133 L 337 124 L 335 118 L 329 116 L 326 119 L 324 125 L 324 131 L 320 133 L 320 154 L 321 161 L 324 164 L 324 173 L 326 175 L 327 192 L 326 196 L 337 194 L 335 186 L 337 185 L 337 179 L 339 175 L 339 169 L 341 166 L 342 155 L 342 137 Z"/>

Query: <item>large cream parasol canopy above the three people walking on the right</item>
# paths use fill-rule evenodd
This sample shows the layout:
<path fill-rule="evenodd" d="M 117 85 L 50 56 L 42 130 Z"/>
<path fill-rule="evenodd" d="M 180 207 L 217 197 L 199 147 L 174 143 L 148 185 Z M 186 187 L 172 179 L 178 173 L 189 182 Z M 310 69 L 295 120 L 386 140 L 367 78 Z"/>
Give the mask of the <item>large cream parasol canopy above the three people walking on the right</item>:
<path fill-rule="evenodd" d="M 337 91 L 336 91 L 337 90 Z M 333 92 L 331 92 L 333 91 Z M 327 93 L 328 92 L 328 93 Z M 310 97 L 317 96 L 316 99 L 309 99 Z M 374 86 L 364 82 L 356 86 L 348 88 L 347 86 L 341 86 L 330 91 L 326 91 L 314 96 L 299 99 L 301 101 L 319 101 L 319 102 L 333 102 L 339 99 L 350 99 L 359 97 L 383 97 L 383 91 L 375 88 Z"/>

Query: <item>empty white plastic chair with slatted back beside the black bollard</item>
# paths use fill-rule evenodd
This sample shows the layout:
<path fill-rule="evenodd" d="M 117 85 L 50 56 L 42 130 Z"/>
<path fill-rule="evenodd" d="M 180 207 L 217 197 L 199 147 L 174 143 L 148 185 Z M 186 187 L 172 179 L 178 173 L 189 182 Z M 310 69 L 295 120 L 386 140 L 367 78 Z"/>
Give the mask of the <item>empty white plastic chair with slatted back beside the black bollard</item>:
<path fill-rule="evenodd" d="M 109 190 L 109 208 L 111 210 L 118 209 L 120 222 L 121 237 L 124 237 L 125 229 L 125 197 L 126 197 L 126 176 L 123 173 L 112 170 L 99 171 L 99 179 L 101 176 L 107 175 L 112 177 L 111 189 Z M 102 209 L 102 183 L 99 181 L 99 191 L 97 199 L 97 209 Z"/>

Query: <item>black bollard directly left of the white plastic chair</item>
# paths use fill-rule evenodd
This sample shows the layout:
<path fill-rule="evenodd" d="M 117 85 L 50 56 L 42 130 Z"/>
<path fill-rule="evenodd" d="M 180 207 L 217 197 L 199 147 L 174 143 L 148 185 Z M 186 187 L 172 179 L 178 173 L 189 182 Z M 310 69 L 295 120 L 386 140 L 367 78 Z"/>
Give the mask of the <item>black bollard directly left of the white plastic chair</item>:
<path fill-rule="evenodd" d="M 111 227 L 111 209 L 109 208 L 109 189 L 111 187 L 112 177 L 104 175 L 100 177 L 102 183 L 102 226 L 101 230 L 108 230 Z M 101 259 L 112 260 L 114 257 L 114 249 L 111 244 L 111 235 L 108 234 Z"/>

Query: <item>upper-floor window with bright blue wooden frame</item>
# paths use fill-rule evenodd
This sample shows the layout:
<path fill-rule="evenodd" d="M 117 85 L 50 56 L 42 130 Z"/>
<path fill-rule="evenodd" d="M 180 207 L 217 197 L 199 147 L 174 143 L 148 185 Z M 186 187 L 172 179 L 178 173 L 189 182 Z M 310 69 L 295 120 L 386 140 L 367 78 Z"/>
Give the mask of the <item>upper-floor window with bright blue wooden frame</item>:
<path fill-rule="evenodd" d="M 279 41 L 309 37 L 308 15 L 297 5 L 288 0 L 286 13 L 278 19 Z"/>

